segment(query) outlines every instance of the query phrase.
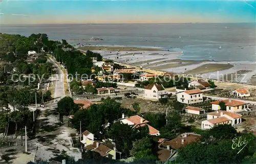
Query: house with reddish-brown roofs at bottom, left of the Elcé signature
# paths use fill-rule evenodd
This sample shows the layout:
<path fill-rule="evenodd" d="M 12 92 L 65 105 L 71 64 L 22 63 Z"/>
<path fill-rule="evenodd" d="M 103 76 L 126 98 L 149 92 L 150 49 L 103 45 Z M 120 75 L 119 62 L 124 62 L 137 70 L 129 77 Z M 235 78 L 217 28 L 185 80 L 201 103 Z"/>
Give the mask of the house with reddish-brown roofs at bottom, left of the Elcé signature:
<path fill-rule="evenodd" d="M 200 142 L 201 135 L 195 133 L 183 133 L 172 140 L 163 140 L 159 144 L 158 158 L 161 162 L 168 161 L 176 155 L 177 149 L 183 148 L 189 144 Z"/>

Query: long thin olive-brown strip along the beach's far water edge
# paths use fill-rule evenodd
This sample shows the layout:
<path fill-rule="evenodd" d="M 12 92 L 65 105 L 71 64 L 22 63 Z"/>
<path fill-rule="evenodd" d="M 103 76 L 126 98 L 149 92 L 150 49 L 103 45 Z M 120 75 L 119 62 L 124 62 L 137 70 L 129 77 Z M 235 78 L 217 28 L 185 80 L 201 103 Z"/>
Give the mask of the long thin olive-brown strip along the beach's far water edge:
<path fill-rule="evenodd" d="M 107 51 L 159 51 L 157 48 L 136 48 L 132 46 L 83 46 L 78 48 L 83 51 L 97 51 L 97 50 L 107 50 Z"/>

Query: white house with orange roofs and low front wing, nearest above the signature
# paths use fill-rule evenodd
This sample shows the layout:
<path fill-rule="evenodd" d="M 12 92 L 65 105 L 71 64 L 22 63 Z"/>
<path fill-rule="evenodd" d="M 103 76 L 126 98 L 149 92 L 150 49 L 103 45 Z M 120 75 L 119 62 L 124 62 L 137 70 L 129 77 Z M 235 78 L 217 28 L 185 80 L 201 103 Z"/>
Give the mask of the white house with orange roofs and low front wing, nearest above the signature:
<path fill-rule="evenodd" d="M 207 113 L 207 120 L 202 121 L 201 129 L 210 129 L 219 124 L 236 125 L 242 122 L 242 115 L 229 111 L 217 110 Z"/>

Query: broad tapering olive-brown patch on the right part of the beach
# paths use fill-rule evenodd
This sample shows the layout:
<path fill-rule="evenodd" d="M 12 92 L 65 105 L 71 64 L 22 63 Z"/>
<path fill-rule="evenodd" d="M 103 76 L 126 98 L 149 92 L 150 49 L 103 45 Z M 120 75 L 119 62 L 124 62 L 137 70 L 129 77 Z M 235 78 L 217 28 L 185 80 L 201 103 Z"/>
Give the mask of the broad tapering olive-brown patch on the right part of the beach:
<path fill-rule="evenodd" d="M 185 72 L 185 74 L 192 74 L 192 75 L 205 74 L 209 72 L 216 72 L 216 71 L 229 69 L 232 67 L 233 65 L 231 64 L 203 64 L 195 69 Z"/>

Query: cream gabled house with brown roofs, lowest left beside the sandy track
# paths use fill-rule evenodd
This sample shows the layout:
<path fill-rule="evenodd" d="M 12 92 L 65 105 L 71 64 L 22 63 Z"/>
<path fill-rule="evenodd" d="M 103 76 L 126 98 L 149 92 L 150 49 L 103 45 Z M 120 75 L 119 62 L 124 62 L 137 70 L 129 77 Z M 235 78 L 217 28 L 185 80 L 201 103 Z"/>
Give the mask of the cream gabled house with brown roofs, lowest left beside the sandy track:
<path fill-rule="evenodd" d="M 105 139 L 102 142 L 95 140 L 94 134 L 86 130 L 83 132 L 81 143 L 84 144 L 86 151 L 94 151 L 111 159 L 121 159 L 121 152 L 116 150 L 116 145 L 111 139 Z"/>

